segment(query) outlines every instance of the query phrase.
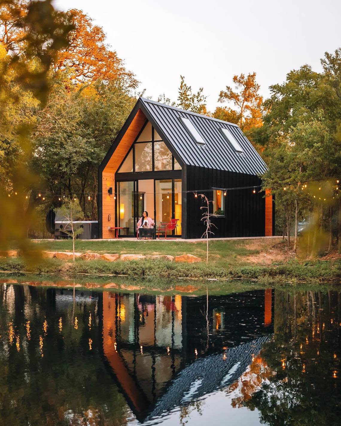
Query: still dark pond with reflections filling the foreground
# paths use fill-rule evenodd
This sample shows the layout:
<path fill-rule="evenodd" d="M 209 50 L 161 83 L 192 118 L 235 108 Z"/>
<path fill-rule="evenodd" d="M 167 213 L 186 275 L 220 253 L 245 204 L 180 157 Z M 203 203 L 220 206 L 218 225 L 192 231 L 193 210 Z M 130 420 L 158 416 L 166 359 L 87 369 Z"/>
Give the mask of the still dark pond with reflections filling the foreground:
<path fill-rule="evenodd" d="M 0 283 L 3 425 L 339 425 L 341 294 Z"/>

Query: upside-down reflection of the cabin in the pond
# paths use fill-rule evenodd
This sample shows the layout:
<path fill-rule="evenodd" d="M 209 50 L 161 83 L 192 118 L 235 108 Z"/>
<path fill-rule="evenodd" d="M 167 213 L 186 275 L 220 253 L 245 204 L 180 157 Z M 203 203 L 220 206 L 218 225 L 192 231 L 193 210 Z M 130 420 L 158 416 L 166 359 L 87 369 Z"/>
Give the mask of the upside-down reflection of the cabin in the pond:
<path fill-rule="evenodd" d="M 210 296 L 208 322 L 206 309 L 206 296 L 103 293 L 104 358 L 139 420 L 184 403 L 198 374 L 206 394 L 237 365 L 233 383 L 273 332 L 271 290 Z"/>

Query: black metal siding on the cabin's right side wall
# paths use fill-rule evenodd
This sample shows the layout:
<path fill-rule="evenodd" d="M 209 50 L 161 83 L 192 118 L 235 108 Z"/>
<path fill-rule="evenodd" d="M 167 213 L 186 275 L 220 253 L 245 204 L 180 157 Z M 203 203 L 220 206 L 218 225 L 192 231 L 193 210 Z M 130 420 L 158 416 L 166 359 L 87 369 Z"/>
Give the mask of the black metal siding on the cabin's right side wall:
<path fill-rule="evenodd" d="M 260 178 L 245 173 L 233 173 L 226 170 L 208 169 L 207 167 L 187 166 L 187 191 L 200 189 L 209 200 L 213 200 L 211 188 L 245 187 L 248 189 L 228 190 L 225 196 L 225 216 L 212 216 L 211 222 L 214 235 L 219 237 L 248 237 L 265 235 L 265 198 L 264 193 L 257 188 Z M 254 194 L 253 186 L 256 187 Z M 183 187 L 185 190 L 185 187 Z M 205 224 L 201 220 L 204 206 L 200 196 L 194 193 L 186 194 L 187 211 L 182 210 L 186 233 L 182 238 L 201 238 Z M 210 203 L 211 204 L 211 203 Z M 211 212 L 213 211 L 211 205 Z"/>

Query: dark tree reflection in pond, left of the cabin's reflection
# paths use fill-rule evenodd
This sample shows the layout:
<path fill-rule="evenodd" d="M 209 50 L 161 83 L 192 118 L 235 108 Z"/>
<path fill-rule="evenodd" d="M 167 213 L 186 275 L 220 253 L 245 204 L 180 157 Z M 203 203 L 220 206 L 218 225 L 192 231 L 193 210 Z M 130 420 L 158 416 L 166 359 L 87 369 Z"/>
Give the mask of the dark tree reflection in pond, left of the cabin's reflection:
<path fill-rule="evenodd" d="M 88 319 L 101 320 L 97 303 L 73 300 L 56 311 L 55 289 L 0 285 L 0 418 L 6 425 L 104 425 L 126 423 L 125 401 L 107 374 L 97 348 L 101 337 Z M 7 309 L 13 306 L 14 309 Z M 25 306 L 25 309 L 24 309 Z M 75 330 L 72 314 L 78 317 Z M 62 318 L 62 331 L 58 319 Z M 46 336 L 43 322 L 48 323 Z M 6 328 L 13 321 L 12 345 Z M 30 339 L 26 323 L 30 322 Z M 43 338 L 43 357 L 39 337 Z M 92 339 L 92 352 L 88 340 Z"/>

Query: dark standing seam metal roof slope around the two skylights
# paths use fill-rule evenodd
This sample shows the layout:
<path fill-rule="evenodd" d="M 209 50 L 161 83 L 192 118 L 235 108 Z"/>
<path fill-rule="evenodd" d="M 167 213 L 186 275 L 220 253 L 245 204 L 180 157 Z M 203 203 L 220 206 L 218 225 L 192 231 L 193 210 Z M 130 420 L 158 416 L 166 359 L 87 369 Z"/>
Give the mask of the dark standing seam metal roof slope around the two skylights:
<path fill-rule="evenodd" d="M 251 175 L 266 171 L 265 162 L 236 124 L 150 99 L 140 98 L 139 101 L 185 164 Z M 205 145 L 199 145 L 193 140 L 179 117 L 188 118 L 194 124 Z M 221 127 L 230 130 L 243 148 L 244 155 L 237 153 L 228 143 Z"/>

